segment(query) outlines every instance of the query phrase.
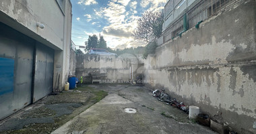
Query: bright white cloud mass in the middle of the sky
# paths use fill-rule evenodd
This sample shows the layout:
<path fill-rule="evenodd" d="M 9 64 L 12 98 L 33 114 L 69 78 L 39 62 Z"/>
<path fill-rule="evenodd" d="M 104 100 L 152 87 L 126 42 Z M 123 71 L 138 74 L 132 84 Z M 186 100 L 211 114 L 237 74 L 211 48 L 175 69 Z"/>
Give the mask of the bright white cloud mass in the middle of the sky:
<path fill-rule="evenodd" d="M 110 48 L 123 49 L 127 47 L 145 46 L 145 42 L 138 42 L 132 36 L 134 29 L 137 27 L 137 19 L 139 19 L 139 16 L 135 15 L 137 13 L 137 6 L 140 4 L 143 10 L 150 6 L 146 10 L 161 11 L 167 1 L 141 0 L 141 3 L 139 3 L 135 0 L 110 0 L 106 7 L 93 9 L 95 13 L 93 16 L 90 14 L 84 15 L 87 17 L 87 21 L 91 21 L 95 27 L 102 27 L 102 25 L 96 25 L 98 22 L 94 22 L 92 19 L 106 19 L 109 24 L 102 27 L 100 33 L 98 31 L 84 31 L 84 33 L 87 36 L 92 36 L 93 34 L 98 36 L 98 34 L 101 34 L 104 36 L 104 40 L 106 40 L 107 46 Z M 130 8 L 128 9 L 127 6 Z"/>

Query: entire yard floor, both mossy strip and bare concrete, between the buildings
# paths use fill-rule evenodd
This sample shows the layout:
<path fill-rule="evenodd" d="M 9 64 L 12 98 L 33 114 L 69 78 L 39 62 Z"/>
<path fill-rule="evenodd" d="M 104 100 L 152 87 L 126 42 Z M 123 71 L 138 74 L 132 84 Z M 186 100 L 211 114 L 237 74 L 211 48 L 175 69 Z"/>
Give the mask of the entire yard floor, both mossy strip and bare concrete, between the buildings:
<path fill-rule="evenodd" d="M 1 121 L 0 131 L 52 134 L 214 133 L 187 117 L 183 111 L 154 98 L 152 90 L 145 86 L 90 84 L 39 100 Z"/>

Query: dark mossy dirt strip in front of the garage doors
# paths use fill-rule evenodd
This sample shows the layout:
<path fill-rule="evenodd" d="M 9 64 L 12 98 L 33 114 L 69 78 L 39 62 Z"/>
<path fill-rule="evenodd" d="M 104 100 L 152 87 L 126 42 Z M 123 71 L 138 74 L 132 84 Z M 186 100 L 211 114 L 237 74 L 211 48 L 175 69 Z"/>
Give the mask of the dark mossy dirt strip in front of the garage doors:
<path fill-rule="evenodd" d="M 34 104 L 40 104 L 40 107 L 22 111 L 18 116 L 5 121 L 0 126 L 0 133 L 51 133 L 106 95 L 107 92 L 102 90 L 81 86 L 47 96 Z"/>

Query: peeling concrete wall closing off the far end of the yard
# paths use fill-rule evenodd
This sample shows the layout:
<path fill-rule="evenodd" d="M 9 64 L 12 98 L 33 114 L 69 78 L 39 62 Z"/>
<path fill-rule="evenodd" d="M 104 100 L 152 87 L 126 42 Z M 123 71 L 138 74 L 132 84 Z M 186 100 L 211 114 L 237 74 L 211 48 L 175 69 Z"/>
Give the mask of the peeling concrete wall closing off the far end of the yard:
<path fill-rule="evenodd" d="M 76 76 L 90 76 L 92 72 L 99 71 L 104 75 L 103 82 L 117 82 L 117 80 L 131 80 L 137 74 L 139 60 L 131 54 L 121 56 L 99 56 L 77 54 Z M 119 81 L 123 82 L 123 81 Z"/>

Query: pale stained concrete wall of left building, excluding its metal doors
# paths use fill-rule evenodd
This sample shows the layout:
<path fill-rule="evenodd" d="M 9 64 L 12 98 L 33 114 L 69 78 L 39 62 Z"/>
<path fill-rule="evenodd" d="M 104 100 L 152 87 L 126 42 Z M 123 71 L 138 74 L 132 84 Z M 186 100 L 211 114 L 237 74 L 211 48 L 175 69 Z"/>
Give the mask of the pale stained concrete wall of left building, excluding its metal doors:
<path fill-rule="evenodd" d="M 61 90 L 69 75 L 72 5 L 70 0 L 2 0 L 0 21 L 22 34 L 55 50 L 53 83 L 60 75 Z M 36 26 L 42 23 L 44 29 Z M 57 87 L 54 87 L 57 88 Z"/>

